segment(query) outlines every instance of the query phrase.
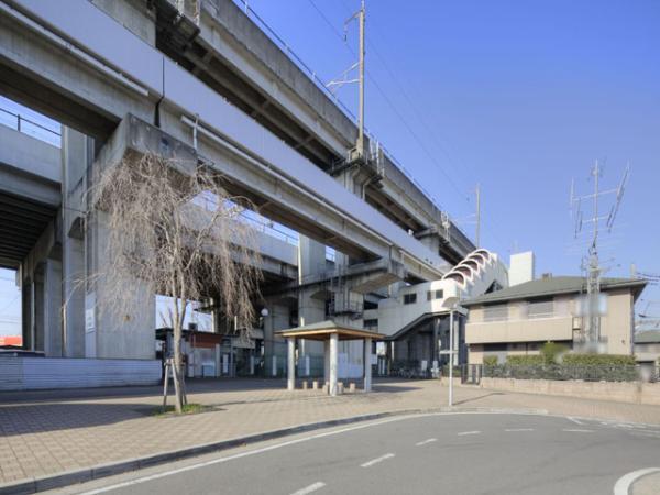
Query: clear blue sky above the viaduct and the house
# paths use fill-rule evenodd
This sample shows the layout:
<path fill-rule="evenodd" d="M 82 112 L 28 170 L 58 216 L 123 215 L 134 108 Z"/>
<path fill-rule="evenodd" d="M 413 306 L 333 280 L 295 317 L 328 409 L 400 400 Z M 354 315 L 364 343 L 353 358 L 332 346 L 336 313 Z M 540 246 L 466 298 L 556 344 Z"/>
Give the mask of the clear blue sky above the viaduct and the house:
<path fill-rule="evenodd" d="M 358 0 L 250 0 L 317 76 L 354 62 Z M 660 2 L 367 0 L 366 124 L 482 245 L 534 250 L 537 274 L 579 274 L 569 189 L 605 187 L 629 161 L 607 275 L 660 273 Z M 356 88 L 338 92 L 355 109 Z M 609 198 L 604 198 L 609 205 Z M 649 287 L 640 307 L 660 301 Z M 0 301 L 1 302 L 1 301 Z M 2 305 L 0 304 L 0 309 Z M 649 312 L 660 315 L 660 304 Z"/>

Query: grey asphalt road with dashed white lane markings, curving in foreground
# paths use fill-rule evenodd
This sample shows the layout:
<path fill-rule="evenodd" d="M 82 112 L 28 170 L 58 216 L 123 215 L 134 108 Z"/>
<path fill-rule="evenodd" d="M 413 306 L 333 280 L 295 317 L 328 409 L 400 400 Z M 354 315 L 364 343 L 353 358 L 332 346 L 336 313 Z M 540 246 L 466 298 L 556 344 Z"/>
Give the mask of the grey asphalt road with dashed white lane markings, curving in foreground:
<path fill-rule="evenodd" d="M 627 473 L 654 466 L 660 466 L 658 427 L 428 415 L 251 446 L 66 493 L 612 494 Z"/>

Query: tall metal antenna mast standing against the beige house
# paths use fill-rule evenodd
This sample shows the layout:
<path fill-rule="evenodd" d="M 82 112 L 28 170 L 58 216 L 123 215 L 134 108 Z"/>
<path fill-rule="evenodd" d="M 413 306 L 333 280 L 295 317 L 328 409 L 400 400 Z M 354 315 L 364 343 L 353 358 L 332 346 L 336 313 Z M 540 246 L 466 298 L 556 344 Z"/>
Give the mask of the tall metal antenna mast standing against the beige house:
<path fill-rule="evenodd" d="M 571 216 L 574 221 L 573 237 L 578 239 L 583 233 L 591 234 L 588 251 L 583 261 L 584 268 L 586 270 L 586 300 L 584 311 L 586 328 L 582 341 L 586 350 L 592 352 L 597 351 L 601 344 L 601 274 L 604 270 L 598 261 L 598 235 L 601 227 L 604 227 L 608 233 L 612 232 L 630 175 L 630 164 L 626 165 L 624 176 L 619 185 L 614 189 L 601 190 L 600 179 L 602 175 L 603 168 L 598 161 L 596 161 L 590 172 L 590 176 L 594 180 L 594 191 L 588 195 L 578 196 L 575 195 L 575 183 L 572 180 L 570 197 Z M 609 212 L 603 215 L 601 212 L 601 199 L 604 196 L 612 197 L 612 195 L 614 195 L 614 201 L 609 208 Z M 585 219 L 583 208 L 588 208 L 590 202 L 591 216 Z M 584 230 L 585 226 L 591 226 L 593 230 Z"/>

